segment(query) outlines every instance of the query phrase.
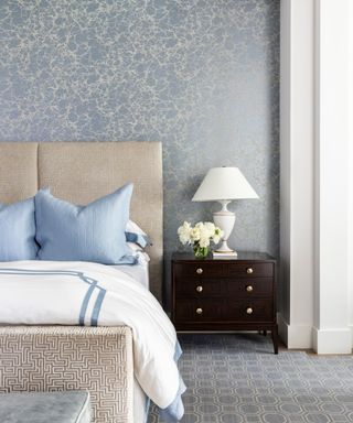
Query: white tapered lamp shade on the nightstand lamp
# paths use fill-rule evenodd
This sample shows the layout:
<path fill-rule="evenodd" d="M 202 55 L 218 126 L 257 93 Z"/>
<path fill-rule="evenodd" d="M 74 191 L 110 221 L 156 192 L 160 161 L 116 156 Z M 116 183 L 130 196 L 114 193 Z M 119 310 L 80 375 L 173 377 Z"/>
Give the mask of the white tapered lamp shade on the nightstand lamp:
<path fill-rule="evenodd" d="M 258 198 L 258 195 L 237 167 L 213 167 L 207 172 L 192 200 L 238 198 Z"/>

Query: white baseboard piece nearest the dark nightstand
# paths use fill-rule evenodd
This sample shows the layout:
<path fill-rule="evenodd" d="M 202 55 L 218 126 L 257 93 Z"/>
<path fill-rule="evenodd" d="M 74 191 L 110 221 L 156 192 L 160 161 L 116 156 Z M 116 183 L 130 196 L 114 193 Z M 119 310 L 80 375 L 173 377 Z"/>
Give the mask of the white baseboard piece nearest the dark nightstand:
<path fill-rule="evenodd" d="M 278 314 L 279 337 L 289 349 L 309 349 L 312 348 L 312 326 L 310 325 L 290 325 Z"/>

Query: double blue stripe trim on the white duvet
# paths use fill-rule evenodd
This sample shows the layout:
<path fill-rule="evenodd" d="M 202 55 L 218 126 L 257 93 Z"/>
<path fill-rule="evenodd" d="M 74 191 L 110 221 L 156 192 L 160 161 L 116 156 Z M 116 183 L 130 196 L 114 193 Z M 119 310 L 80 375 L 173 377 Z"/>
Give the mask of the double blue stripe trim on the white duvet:
<path fill-rule="evenodd" d="M 100 288 L 98 285 L 98 281 L 96 281 L 93 278 L 86 276 L 83 272 L 78 272 L 75 270 L 30 270 L 30 269 L 7 269 L 2 268 L 0 269 L 0 274 L 18 274 L 18 275 L 54 275 L 54 276 L 77 276 L 81 281 L 84 283 L 87 283 L 89 285 L 83 303 L 81 305 L 79 310 L 79 316 L 78 316 L 78 324 L 79 326 L 85 326 L 86 321 L 86 314 L 87 308 L 89 305 L 89 302 L 92 300 L 93 293 L 95 290 L 98 290 L 97 297 L 95 300 L 92 315 L 90 315 L 90 326 L 97 326 L 98 325 L 98 317 L 103 304 L 103 300 L 106 294 L 106 290 Z"/>

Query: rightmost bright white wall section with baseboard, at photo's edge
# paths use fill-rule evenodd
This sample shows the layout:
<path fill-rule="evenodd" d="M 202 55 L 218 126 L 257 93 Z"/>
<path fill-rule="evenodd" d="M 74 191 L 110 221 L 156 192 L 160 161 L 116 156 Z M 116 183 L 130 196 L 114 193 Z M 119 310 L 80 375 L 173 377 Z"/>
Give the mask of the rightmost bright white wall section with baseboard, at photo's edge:
<path fill-rule="evenodd" d="M 352 349 L 347 274 L 350 1 L 315 1 L 313 347 L 323 354 Z"/>

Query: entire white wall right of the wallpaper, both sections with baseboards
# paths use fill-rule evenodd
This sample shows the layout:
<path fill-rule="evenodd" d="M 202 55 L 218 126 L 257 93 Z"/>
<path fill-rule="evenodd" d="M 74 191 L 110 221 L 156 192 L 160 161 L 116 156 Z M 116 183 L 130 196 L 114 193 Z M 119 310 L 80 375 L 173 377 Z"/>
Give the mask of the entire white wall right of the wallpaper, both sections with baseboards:
<path fill-rule="evenodd" d="M 352 348 L 352 10 L 281 1 L 279 326 L 289 348 L 318 352 Z"/>

